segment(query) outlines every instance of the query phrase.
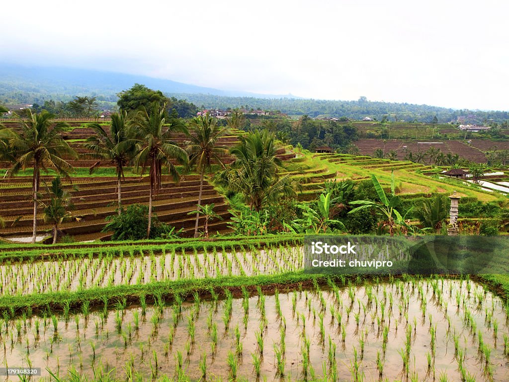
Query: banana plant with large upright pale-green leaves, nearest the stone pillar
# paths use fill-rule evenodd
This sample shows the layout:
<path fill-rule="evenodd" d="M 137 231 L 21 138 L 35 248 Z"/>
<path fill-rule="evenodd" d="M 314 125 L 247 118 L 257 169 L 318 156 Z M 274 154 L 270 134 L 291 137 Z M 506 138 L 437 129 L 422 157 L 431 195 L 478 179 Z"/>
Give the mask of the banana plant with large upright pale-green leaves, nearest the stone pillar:
<path fill-rule="evenodd" d="M 395 195 L 394 172 L 392 172 L 390 181 L 390 198 L 388 198 L 387 195 L 385 194 L 384 189 L 380 185 L 380 182 L 378 181 L 375 175 L 371 175 L 371 180 L 373 181 L 373 185 L 375 186 L 375 190 L 377 192 L 378 199 L 380 199 L 380 203 L 376 203 L 371 200 L 356 200 L 350 202 L 350 204 L 358 205 L 359 207 L 352 209 L 348 213 L 354 213 L 356 211 L 366 208 L 374 208 L 384 217 L 384 223 L 382 225 L 382 228 L 388 227 L 389 234 L 391 236 L 394 235 L 394 229 L 398 225 L 403 226 L 405 228 L 411 228 L 410 226 L 408 226 L 407 223 L 405 223 L 405 219 L 403 218 L 403 216 L 401 216 L 401 213 L 396 209 L 396 207 L 398 207 L 401 204 L 401 199 L 399 196 Z"/>

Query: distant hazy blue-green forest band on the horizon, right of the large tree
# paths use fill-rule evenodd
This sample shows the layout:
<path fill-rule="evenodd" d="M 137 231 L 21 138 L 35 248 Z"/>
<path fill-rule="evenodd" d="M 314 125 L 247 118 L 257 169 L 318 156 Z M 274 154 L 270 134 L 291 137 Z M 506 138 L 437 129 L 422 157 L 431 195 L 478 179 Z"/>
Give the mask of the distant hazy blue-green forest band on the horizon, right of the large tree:
<path fill-rule="evenodd" d="M 224 97 L 210 94 L 169 94 L 179 99 L 186 99 L 204 108 L 246 108 L 279 111 L 292 116 L 308 115 L 309 117 L 348 117 L 362 119 L 371 117 L 382 120 L 387 116 L 389 121 L 427 122 L 432 123 L 436 116 L 438 122 L 456 121 L 458 117 L 489 123 L 491 119 L 504 122 L 509 119 L 509 112 L 482 112 L 472 110 L 454 110 L 451 108 L 416 105 L 410 103 L 377 102 L 360 97 L 356 101 L 331 101 L 320 99 L 296 98 L 255 98 Z M 470 117 L 469 117 L 470 116 Z M 475 117 L 473 117 L 475 116 Z"/>

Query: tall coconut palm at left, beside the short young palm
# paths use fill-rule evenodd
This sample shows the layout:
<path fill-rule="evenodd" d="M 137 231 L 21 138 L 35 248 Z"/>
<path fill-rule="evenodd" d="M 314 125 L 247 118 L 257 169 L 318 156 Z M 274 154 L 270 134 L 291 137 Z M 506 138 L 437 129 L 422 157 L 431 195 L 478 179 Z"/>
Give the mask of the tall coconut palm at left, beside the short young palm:
<path fill-rule="evenodd" d="M 12 138 L 9 139 L 9 147 L 14 157 L 13 166 L 7 171 L 8 176 L 17 174 L 32 166 L 34 174 L 32 178 L 32 192 L 34 202 L 34 224 L 32 242 L 35 243 L 37 234 L 37 211 L 39 205 L 39 184 L 41 170 L 48 168 L 55 170 L 61 175 L 69 176 L 72 166 L 64 159 L 67 155 L 76 158 L 76 152 L 62 139 L 62 133 L 69 125 L 65 122 L 53 123 L 54 114 L 43 110 L 39 114 L 33 114 L 29 110 L 29 118 L 23 121 L 21 133 L 10 130 Z"/>

